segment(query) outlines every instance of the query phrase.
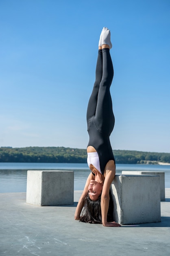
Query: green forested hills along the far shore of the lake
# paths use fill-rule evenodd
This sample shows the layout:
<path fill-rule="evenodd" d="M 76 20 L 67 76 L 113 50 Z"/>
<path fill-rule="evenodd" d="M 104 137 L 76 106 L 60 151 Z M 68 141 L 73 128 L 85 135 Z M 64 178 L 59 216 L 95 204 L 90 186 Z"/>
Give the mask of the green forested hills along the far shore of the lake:
<path fill-rule="evenodd" d="M 116 164 L 170 163 L 170 153 L 113 150 Z M 0 162 L 86 163 L 86 149 L 65 147 L 0 148 Z"/>

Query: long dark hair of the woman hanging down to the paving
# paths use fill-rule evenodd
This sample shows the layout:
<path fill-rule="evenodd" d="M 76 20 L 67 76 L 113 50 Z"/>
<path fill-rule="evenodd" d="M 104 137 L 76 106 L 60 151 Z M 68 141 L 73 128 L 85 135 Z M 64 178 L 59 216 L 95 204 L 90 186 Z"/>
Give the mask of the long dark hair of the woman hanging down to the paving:
<path fill-rule="evenodd" d="M 113 200 L 111 196 L 111 191 L 109 191 L 109 209 L 107 213 L 107 221 L 113 221 Z M 93 201 L 89 198 L 89 195 L 85 198 L 85 205 L 80 216 L 81 222 L 91 223 L 91 224 L 102 224 L 102 213 L 101 213 L 101 195 L 98 200 Z"/>

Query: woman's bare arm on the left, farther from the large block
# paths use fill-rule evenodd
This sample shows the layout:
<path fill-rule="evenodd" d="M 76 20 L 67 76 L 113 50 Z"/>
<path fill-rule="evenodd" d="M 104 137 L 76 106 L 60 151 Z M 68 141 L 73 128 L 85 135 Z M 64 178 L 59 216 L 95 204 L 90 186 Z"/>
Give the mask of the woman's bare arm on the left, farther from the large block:
<path fill-rule="evenodd" d="M 81 211 L 83 209 L 83 206 L 85 204 L 85 198 L 86 196 L 88 195 L 88 186 L 90 184 L 90 180 L 94 180 L 94 175 L 92 173 L 89 174 L 88 178 L 87 178 L 87 181 L 86 181 L 86 184 L 85 184 L 85 188 L 83 190 L 83 193 L 80 197 L 80 199 L 78 200 L 78 204 L 77 204 L 77 207 L 76 207 L 76 211 L 75 211 L 75 214 L 74 214 L 74 219 L 75 220 L 79 220 L 80 219 L 80 214 L 81 214 Z"/>

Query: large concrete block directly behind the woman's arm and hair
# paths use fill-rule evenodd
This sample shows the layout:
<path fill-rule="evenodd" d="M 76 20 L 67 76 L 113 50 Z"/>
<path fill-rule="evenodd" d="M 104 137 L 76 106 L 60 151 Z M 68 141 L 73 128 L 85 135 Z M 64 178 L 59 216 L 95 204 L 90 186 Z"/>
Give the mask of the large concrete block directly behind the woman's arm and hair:
<path fill-rule="evenodd" d="M 121 225 L 161 221 L 160 182 L 154 175 L 115 175 L 114 220 Z"/>

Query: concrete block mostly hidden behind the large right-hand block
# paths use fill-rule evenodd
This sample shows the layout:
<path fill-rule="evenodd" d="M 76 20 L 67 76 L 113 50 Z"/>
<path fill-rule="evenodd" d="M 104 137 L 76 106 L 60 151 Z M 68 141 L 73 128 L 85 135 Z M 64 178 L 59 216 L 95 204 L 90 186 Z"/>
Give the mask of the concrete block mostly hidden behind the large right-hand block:
<path fill-rule="evenodd" d="M 159 175 L 160 176 L 161 201 L 165 200 L 165 173 L 164 172 L 159 172 L 159 171 L 122 171 L 122 174 Z"/>

